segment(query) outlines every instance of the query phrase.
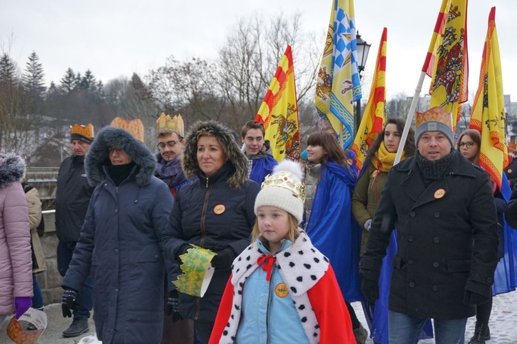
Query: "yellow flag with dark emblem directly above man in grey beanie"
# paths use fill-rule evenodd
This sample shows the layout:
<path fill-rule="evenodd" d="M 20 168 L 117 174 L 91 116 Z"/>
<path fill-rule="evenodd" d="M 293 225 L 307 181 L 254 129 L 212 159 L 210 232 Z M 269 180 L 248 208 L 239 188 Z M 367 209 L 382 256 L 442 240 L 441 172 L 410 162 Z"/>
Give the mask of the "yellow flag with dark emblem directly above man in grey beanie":
<path fill-rule="evenodd" d="M 460 104 L 468 99 L 467 2 L 447 1 L 447 21 L 436 39 L 429 89 L 429 108 L 438 106 L 452 114 L 453 131 L 460 119 Z"/>

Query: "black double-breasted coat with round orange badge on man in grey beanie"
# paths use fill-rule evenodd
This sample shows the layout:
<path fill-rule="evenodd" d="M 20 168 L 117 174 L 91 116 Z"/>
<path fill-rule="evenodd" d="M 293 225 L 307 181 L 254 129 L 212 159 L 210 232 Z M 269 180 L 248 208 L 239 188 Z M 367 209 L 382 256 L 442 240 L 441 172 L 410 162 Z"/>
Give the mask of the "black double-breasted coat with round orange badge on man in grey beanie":
<path fill-rule="evenodd" d="M 488 297 L 498 262 L 497 214 L 487 173 L 456 153 L 427 188 L 415 158 L 388 174 L 360 262 L 377 278 L 397 229 L 389 310 L 419 318 L 464 319 L 465 290 Z"/>

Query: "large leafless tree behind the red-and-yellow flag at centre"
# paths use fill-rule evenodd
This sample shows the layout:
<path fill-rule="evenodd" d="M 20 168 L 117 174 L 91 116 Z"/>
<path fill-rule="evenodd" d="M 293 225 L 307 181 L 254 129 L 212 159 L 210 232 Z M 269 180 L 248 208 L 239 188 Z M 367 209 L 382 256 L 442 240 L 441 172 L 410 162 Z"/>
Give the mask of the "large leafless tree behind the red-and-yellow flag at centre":
<path fill-rule="evenodd" d="M 287 45 L 293 51 L 298 103 L 312 94 L 321 54 L 315 35 L 303 34 L 300 23 L 298 14 L 290 20 L 249 17 L 239 19 L 227 35 L 216 65 L 228 122 L 240 127 L 254 118 Z"/>

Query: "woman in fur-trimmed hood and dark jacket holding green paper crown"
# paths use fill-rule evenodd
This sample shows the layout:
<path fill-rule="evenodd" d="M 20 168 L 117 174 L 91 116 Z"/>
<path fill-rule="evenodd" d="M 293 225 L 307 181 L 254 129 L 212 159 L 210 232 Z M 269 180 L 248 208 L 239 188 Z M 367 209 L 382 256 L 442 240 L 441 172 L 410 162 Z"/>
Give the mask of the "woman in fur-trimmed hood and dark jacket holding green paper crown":
<path fill-rule="evenodd" d="M 179 293 L 179 313 L 194 319 L 203 343 L 212 332 L 232 261 L 249 244 L 259 184 L 247 179 L 247 160 L 229 129 L 214 121 L 196 122 L 183 151 L 183 171 L 195 182 L 176 194 L 163 249 L 170 259 L 191 244 L 217 253 L 214 276 L 202 298 Z M 171 292 L 172 299 L 177 292 Z"/>

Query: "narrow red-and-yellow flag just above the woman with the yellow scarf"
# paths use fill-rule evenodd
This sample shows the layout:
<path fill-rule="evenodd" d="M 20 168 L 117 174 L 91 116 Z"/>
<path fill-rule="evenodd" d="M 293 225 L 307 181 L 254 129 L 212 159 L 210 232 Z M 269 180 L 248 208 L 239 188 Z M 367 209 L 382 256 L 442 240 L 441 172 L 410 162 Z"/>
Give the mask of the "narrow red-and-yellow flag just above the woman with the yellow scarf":
<path fill-rule="evenodd" d="M 387 28 L 384 28 L 381 36 L 381 44 L 378 47 L 377 62 L 375 64 L 374 78 L 370 88 L 368 103 L 365 107 L 361 124 L 357 130 L 352 151 L 356 153 L 357 171 L 363 169 L 368 148 L 383 130 L 386 120 L 386 39 Z"/>

